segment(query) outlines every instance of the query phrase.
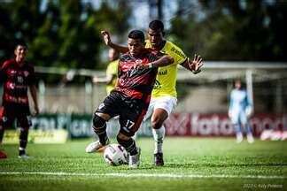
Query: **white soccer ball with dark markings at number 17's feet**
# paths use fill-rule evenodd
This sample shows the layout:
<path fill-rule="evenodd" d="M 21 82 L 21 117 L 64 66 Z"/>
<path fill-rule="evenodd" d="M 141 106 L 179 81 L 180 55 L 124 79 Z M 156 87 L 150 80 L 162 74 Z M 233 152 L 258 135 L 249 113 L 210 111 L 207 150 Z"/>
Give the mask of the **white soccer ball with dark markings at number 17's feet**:
<path fill-rule="evenodd" d="M 105 148 L 104 158 L 107 164 L 117 166 L 128 164 L 128 152 L 120 144 L 110 144 Z"/>

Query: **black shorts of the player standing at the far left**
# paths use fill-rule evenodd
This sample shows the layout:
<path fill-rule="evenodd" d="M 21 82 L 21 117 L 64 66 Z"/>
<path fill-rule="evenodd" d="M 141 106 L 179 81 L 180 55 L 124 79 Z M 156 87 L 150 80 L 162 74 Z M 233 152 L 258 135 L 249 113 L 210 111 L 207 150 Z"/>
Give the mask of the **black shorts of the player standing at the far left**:
<path fill-rule="evenodd" d="M 4 129 L 13 126 L 14 119 L 17 119 L 17 126 L 32 126 L 30 110 L 27 105 L 7 104 L 3 106 L 2 115 L 0 116 L 0 125 Z"/>

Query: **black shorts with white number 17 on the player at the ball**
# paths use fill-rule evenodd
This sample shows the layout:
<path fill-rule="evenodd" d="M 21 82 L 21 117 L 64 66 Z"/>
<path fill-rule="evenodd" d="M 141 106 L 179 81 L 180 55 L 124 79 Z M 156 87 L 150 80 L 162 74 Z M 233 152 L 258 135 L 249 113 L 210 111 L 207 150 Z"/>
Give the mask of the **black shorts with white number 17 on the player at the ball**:
<path fill-rule="evenodd" d="M 149 104 L 143 100 L 132 99 L 120 92 L 112 91 L 96 112 L 105 113 L 111 117 L 120 116 L 120 133 L 133 136 L 141 126 Z"/>

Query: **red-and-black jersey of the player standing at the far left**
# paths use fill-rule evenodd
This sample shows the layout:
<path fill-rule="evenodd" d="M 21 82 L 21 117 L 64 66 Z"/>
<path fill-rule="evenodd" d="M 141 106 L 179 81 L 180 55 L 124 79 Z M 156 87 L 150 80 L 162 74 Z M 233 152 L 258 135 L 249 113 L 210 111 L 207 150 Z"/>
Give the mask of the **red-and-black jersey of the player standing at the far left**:
<path fill-rule="evenodd" d="M 27 62 L 19 66 L 15 59 L 7 60 L 1 66 L 0 83 L 4 86 L 3 105 L 28 105 L 27 88 L 35 84 L 34 66 Z"/>

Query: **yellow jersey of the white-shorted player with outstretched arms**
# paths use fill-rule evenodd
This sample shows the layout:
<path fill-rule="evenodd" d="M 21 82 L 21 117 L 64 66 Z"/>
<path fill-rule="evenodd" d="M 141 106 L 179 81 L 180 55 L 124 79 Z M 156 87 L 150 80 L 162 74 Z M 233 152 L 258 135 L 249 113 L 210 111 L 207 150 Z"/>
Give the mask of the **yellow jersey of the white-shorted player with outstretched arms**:
<path fill-rule="evenodd" d="M 149 40 L 145 41 L 145 48 L 151 49 L 151 42 Z M 187 57 L 179 47 L 177 47 L 173 42 L 168 41 L 160 52 L 173 57 L 175 62 L 171 65 L 159 67 L 157 79 L 151 92 L 151 97 L 171 95 L 176 98 L 177 65 L 182 64 Z"/>

